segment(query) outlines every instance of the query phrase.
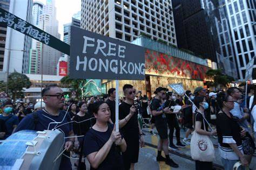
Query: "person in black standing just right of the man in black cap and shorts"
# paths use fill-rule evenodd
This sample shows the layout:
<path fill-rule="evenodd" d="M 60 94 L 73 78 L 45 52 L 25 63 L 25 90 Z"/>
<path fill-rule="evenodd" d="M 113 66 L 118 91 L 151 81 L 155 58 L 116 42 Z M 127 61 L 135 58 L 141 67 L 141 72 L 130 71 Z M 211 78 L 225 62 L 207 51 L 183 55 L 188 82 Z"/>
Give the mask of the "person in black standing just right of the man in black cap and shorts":
<path fill-rule="evenodd" d="M 178 123 L 178 119 L 176 114 L 178 114 L 177 112 L 173 112 L 173 109 L 171 109 L 171 107 L 177 105 L 176 101 L 176 96 L 169 91 L 167 93 L 166 96 L 167 100 L 165 102 L 165 107 L 169 107 L 170 108 L 170 112 L 172 114 L 166 114 L 166 118 L 167 118 L 167 124 L 169 126 L 170 132 L 169 132 L 169 147 L 171 148 L 171 150 L 178 150 L 178 147 L 186 147 L 185 145 L 181 144 L 180 142 L 180 128 L 179 128 L 179 123 Z M 173 133 L 174 133 L 174 129 L 176 130 L 175 134 L 176 134 L 176 139 L 177 139 L 177 144 L 176 146 L 173 144 Z"/>

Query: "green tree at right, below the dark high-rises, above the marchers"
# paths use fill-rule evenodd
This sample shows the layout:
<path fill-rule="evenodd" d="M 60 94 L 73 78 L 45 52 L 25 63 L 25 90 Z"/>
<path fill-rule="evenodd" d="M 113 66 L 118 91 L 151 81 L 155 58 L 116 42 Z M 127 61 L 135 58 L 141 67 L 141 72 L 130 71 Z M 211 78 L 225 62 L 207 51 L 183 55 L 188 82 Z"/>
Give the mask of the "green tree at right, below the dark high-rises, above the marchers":
<path fill-rule="evenodd" d="M 234 81 L 234 78 L 222 73 L 221 69 L 210 69 L 206 72 L 208 77 L 213 79 L 213 82 L 208 82 L 208 86 L 214 86 L 217 88 L 218 85 L 226 86 L 228 83 Z"/>

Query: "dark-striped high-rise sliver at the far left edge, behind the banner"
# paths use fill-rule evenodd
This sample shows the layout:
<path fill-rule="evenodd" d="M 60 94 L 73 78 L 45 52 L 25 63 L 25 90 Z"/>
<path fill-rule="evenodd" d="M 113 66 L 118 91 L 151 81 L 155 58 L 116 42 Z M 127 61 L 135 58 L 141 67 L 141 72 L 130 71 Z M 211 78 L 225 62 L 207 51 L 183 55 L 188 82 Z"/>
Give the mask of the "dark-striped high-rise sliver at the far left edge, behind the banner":
<path fill-rule="evenodd" d="M 10 0 L 0 0 L 0 8 L 9 11 Z M 4 48 L 6 39 L 7 25 L 0 24 L 0 72 L 3 71 L 4 66 Z"/>

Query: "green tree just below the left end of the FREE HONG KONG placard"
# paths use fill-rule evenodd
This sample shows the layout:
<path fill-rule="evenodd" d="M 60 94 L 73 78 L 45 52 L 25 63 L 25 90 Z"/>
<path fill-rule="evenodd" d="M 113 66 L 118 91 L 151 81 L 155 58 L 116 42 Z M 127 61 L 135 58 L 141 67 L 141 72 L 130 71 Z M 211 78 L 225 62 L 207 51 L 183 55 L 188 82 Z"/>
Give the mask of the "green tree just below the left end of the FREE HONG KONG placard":
<path fill-rule="evenodd" d="M 76 97 L 78 100 L 83 98 L 86 79 L 71 79 L 69 76 L 65 76 L 60 80 L 60 82 L 64 84 L 66 87 L 69 87 L 70 92 L 76 91 Z M 69 96 L 71 96 L 71 94 Z"/>

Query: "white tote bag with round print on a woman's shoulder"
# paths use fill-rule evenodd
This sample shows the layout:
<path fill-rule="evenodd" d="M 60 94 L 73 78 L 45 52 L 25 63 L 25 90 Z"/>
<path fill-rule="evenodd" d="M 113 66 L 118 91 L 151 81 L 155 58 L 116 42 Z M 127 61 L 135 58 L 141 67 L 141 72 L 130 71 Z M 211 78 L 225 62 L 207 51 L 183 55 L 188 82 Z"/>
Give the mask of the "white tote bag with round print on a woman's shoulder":
<path fill-rule="evenodd" d="M 215 160 L 214 147 L 211 139 L 206 135 L 198 134 L 196 131 L 193 132 L 191 137 L 190 151 L 193 160 L 204 162 L 212 162 Z"/>

